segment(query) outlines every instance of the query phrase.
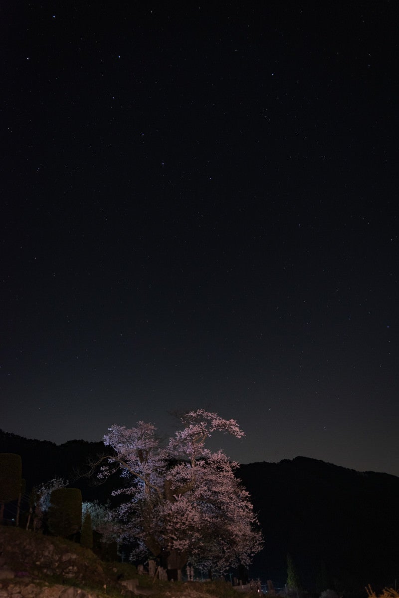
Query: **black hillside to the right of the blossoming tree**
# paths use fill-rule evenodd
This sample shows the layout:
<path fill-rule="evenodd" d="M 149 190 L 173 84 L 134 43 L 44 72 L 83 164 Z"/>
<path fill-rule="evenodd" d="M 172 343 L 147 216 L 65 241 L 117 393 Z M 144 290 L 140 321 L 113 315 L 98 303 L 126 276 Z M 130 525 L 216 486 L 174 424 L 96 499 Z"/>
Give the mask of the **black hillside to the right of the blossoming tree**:
<path fill-rule="evenodd" d="M 242 465 L 238 475 L 259 512 L 266 540 L 254 566 L 264 559 L 277 585 L 286 581 L 290 553 L 309 589 L 394 586 L 398 477 L 308 457 Z"/>

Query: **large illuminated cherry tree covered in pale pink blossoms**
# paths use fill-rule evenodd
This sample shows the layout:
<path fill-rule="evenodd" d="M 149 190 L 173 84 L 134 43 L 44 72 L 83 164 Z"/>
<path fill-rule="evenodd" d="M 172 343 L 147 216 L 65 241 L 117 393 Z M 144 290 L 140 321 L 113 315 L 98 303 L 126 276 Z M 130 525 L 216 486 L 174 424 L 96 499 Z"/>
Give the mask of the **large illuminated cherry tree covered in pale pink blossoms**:
<path fill-rule="evenodd" d="M 235 420 L 203 409 L 181 418 L 183 429 L 162 446 L 151 423 L 136 428 L 113 425 L 104 437 L 115 454 L 106 457 L 100 477 L 119 469 L 125 496 L 118 507 L 121 539 L 137 543 L 133 558 L 179 555 L 202 569 L 223 573 L 248 565 L 262 548 L 262 536 L 250 497 L 235 477 L 238 463 L 205 441 L 220 431 L 243 437 Z"/>

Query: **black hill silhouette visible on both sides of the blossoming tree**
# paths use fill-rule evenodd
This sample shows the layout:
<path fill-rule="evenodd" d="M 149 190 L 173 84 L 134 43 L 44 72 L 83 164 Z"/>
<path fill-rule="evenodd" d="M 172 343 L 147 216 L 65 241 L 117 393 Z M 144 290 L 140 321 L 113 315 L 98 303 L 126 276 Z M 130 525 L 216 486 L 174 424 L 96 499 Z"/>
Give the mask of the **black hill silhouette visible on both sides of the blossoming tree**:
<path fill-rule="evenodd" d="M 83 440 L 57 446 L 0 430 L 0 452 L 22 456 L 27 490 L 55 476 L 72 481 L 76 469 L 87 469 L 88 460 L 106 449 L 103 443 Z M 309 590 L 334 587 L 339 593 L 353 590 L 366 596 L 369 583 L 376 591 L 395 587 L 398 477 L 306 457 L 241 465 L 238 477 L 250 492 L 265 536 L 252 577 L 283 587 L 290 553 Z M 81 488 L 87 501 L 105 502 L 112 491 L 112 481 L 93 487 L 82 478 L 72 485 Z"/>

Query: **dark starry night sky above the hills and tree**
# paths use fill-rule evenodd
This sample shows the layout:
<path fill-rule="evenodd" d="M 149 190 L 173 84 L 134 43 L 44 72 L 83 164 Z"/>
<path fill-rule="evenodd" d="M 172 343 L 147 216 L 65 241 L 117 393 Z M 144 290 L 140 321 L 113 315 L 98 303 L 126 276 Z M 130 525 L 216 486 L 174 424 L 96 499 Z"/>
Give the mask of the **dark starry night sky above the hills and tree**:
<path fill-rule="evenodd" d="M 399 475 L 397 2 L 0 16 L 0 428 Z"/>

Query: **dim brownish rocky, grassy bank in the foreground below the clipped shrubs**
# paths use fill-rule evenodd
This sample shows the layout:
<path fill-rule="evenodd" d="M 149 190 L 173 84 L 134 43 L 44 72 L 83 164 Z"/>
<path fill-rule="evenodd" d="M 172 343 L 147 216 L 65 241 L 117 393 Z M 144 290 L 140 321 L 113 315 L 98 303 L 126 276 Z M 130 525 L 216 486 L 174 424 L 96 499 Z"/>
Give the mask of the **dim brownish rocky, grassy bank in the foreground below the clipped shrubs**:
<path fill-rule="evenodd" d="M 124 585 L 134 579 L 130 591 Z M 134 587 L 133 584 L 127 584 Z M 0 526 L 0 598 L 237 598 L 226 582 L 167 582 L 137 575 L 133 565 L 104 563 L 62 538 Z"/>

